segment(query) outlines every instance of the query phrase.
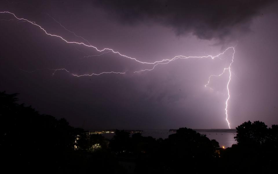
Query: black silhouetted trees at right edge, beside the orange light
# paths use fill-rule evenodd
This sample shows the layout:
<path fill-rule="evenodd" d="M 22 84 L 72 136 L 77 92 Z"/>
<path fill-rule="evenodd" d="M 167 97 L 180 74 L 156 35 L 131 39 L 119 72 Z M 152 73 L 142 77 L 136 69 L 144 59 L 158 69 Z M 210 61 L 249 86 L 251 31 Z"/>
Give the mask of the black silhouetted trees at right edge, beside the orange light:
<path fill-rule="evenodd" d="M 260 121 L 239 125 L 237 144 L 225 149 L 222 166 L 225 173 L 276 173 L 278 155 L 278 125 L 271 128 Z"/>

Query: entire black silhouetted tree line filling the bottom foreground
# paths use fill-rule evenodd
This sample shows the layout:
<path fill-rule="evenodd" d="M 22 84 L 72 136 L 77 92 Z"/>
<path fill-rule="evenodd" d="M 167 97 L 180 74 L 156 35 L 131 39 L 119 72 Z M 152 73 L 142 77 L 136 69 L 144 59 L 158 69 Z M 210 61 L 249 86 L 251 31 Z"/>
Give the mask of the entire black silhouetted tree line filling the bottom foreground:
<path fill-rule="evenodd" d="M 226 149 L 188 128 L 167 139 L 116 130 L 108 140 L 19 105 L 16 96 L 0 93 L 1 173 L 277 172 L 278 125 L 244 122 L 238 144 Z"/>

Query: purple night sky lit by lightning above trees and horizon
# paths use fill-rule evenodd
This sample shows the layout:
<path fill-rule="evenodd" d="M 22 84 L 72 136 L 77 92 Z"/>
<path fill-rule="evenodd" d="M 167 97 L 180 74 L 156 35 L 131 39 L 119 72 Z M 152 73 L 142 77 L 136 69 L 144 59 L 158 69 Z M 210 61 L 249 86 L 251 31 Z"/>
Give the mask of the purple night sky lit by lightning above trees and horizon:
<path fill-rule="evenodd" d="M 1 1 L 69 42 L 113 49 L 141 62 L 218 55 L 235 47 L 228 120 L 278 124 L 278 3 L 235 1 Z M 0 13 L 0 90 L 42 114 L 85 129 L 228 128 L 222 56 L 141 64 L 109 50 L 70 44 Z M 56 70 L 63 69 L 66 70 Z M 121 72 L 124 74 L 102 72 Z"/>

